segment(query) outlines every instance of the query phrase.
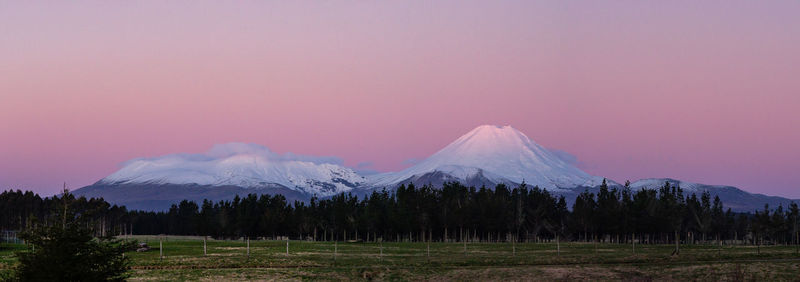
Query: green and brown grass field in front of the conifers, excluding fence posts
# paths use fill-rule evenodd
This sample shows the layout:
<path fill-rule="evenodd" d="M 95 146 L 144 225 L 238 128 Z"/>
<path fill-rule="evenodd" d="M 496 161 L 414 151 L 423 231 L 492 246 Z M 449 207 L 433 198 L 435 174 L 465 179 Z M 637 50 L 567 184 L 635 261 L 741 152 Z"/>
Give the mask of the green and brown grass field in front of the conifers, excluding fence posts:
<path fill-rule="evenodd" d="M 593 243 L 331 243 L 135 236 L 153 249 L 129 252 L 134 281 L 144 280 L 704 280 L 798 281 L 795 246 Z M 159 239 L 164 257 L 159 256 Z M 10 249 L 9 249 L 10 247 Z M 0 271 L 13 250 L 0 250 Z M 334 255 L 335 249 L 335 255 Z M 382 252 L 382 254 L 381 254 Z"/>

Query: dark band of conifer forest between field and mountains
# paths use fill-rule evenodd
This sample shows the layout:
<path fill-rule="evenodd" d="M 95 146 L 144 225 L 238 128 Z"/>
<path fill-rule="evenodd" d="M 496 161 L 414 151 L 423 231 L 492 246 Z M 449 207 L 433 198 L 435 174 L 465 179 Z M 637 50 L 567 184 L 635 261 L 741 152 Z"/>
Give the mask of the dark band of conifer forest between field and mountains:
<path fill-rule="evenodd" d="M 66 197 L 66 199 L 64 198 Z M 736 242 L 796 244 L 800 210 L 768 207 L 754 213 L 724 209 L 708 192 L 684 195 L 665 183 L 631 191 L 600 187 L 572 207 L 538 187 L 441 188 L 403 185 L 359 199 L 340 194 L 308 203 L 281 195 L 248 195 L 230 201 L 182 201 L 169 211 L 128 211 L 103 199 L 66 193 L 42 198 L 33 192 L 0 194 L 0 230 L 25 230 L 60 222 L 64 209 L 98 236 L 118 234 L 200 235 L 215 238 L 303 240 L 537 241 L 641 243 Z"/>

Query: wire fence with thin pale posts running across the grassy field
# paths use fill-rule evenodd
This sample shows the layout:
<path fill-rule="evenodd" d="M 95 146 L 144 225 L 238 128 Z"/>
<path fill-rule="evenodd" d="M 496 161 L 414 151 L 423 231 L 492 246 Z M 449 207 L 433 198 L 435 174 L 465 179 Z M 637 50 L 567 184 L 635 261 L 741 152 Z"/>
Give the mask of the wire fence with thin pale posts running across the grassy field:
<path fill-rule="evenodd" d="M 132 252 L 134 265 L 255 267 L 392 265 L 548 265 L 592 263 L 680 263 L 720 260 L 800 259 L 794 245 L 751 246 L 615 244 L 599 242 L 312 242 L 213 240 L 184 236 L 133 236 L 150 246 Z"/>

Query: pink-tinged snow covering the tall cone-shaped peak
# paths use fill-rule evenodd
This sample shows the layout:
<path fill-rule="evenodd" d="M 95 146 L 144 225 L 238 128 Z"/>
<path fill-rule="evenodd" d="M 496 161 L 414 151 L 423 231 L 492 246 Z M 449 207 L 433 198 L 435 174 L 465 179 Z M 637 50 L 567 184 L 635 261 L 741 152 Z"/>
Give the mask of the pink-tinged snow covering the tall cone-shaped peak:
<path fill-rule="evenodd" d="M 519 184 L 524 180 L 551 190 L 597 186 L 603 180 L 565 162 L 511 126 L 483 125 L 412 167 L 370 176 L 368 185 L 391 187 L 423 179 L 431 173 L 464 182 L 480 178 L 492 183 Z"/>

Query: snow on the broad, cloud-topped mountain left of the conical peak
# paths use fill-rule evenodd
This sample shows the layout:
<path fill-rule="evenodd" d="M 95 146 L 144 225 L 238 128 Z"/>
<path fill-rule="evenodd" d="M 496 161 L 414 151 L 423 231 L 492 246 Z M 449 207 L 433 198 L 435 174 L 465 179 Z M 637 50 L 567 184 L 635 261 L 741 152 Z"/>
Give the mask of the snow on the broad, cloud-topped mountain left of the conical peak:
<path fill-rule="evenodd" d="M 366 179 L 336 158 L 277 154 L 255 144 L 216 145 L 203 154 L 131 160 L 99 184 L 196 184 L 264 188 L 281 186 L 319 196 L 347 192 Z"/>

